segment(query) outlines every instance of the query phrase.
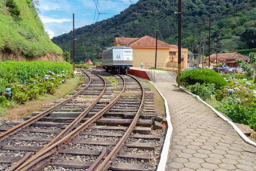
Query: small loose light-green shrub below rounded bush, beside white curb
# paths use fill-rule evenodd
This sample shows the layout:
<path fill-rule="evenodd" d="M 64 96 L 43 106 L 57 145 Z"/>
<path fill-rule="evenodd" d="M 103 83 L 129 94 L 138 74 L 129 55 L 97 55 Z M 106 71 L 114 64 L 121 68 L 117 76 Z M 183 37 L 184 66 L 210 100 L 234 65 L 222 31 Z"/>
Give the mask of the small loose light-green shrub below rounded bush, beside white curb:
<path fill-rule="evenodd" d="M 189 89 L 191 90 L 191 93 L 200 96 L 201 99 L 211 99 L 211 96 L 215 92 L 215 84 L 200 84 L 196 83 L 194 85 L 189 86 Z"/>

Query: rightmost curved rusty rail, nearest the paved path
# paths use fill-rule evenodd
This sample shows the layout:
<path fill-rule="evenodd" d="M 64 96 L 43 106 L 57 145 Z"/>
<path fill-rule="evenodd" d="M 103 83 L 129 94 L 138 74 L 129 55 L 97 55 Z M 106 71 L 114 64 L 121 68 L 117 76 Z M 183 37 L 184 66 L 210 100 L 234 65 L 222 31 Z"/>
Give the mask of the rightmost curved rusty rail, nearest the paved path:
<path fill-rule="evenodd" d="M 128 76 L 134 78 L 131 75 L 128 75 Z M 131 125 L 125 131 L 125 133 L 122 136 L 122 138 L 119 140 L 119 142 L 116 144 L 116 146 L 112 149 L 112 151 L 108 154 L 108 156 L 103 160 L 103 162 L 100 165 L 98 165 L 98 167 L 96 167 L 94 169 L 94 171 L 107 171 L 108 170 L 108 168 L 111 165 L 111 162 L 117 157 L 118 152 L 124 146 L 125 141 L 127 140 L 127 138 L 130 135 L 130 133 L 132 133 L 132 131 L 134 130 L 134 128 L 135 128 L 135 126 L 137 124 L 137 121 L 138 121 L 138 119 L 140 117 L 140 110 L 143 107 L 143 102 L 144 102 L 144 99 L 145 99 L 145 91 L 144 91 L 144 88 L 143 88 L 142 84 L 140 83 L 140 81 L 138 81 L 137 78 L 134 78 L 134 79 L 140 84 L 140 87 L 142 88 L 143 95 L 142 95 L 142 99 L 141 99 L 141 102 L 140 102 L 140 107 L 139 107 L 136 115 L 134 116 L 134 119 L 131 122 Z"/>

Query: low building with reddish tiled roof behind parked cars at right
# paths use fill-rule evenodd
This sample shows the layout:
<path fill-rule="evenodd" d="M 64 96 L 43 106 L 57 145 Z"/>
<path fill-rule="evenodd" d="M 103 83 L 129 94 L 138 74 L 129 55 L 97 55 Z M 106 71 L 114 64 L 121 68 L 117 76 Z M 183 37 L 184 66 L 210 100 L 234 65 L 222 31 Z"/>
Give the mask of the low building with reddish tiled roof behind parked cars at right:
<path fill-rule="evenodd" d="M 236 59 L 243 59 L 246 61 L 248 56 L 241 55 L 238 52 L 230 52 L 230 53 L 218 53 L 217 59 L 218 63 L 222 65 L 228 65 L 230 67 L 238 67 L 238 64 L 236 62 Z M 204 58 L 204 67 L 208 66 L 209 62 L 209 56 Z M 210 65 L 217 64 L 216 63 L 216 53 L 210 55 Z"/>

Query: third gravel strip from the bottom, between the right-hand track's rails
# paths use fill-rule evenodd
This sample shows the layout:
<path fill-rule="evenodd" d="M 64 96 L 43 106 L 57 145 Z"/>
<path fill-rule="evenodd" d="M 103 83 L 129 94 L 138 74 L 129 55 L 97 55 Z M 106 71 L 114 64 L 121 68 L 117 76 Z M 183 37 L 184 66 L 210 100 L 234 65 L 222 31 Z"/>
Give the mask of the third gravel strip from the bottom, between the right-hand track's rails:
<path fill-rule="evenodd" d="M 77 144 L 77 143 L 69 143 L 64 148 L 70 148 L 70 149 L 83 149 L 83 150 L 97 150 L 102 151 L 104 146 L 102 145 L 88 145 L 88 144 Z M 107 149 L 112 150 L 112 145 L 105 146 Z"/>

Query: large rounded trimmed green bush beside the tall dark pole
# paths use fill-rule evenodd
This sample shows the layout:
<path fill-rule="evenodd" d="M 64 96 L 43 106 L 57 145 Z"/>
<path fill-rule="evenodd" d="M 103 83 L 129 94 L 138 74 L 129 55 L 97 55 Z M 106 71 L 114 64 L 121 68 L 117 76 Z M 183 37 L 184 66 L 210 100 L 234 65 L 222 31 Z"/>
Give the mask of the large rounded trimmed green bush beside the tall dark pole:
<path fill-rule="evenodd" d="M 196 83 L 213 83 L 215 84 L 216 89 L 226 85 L 226 81 L 223 79 L 223 77 L 210 69 L 185 70 L 181 72 L 180 82 L 184 86 L 194 85 Z"/>

